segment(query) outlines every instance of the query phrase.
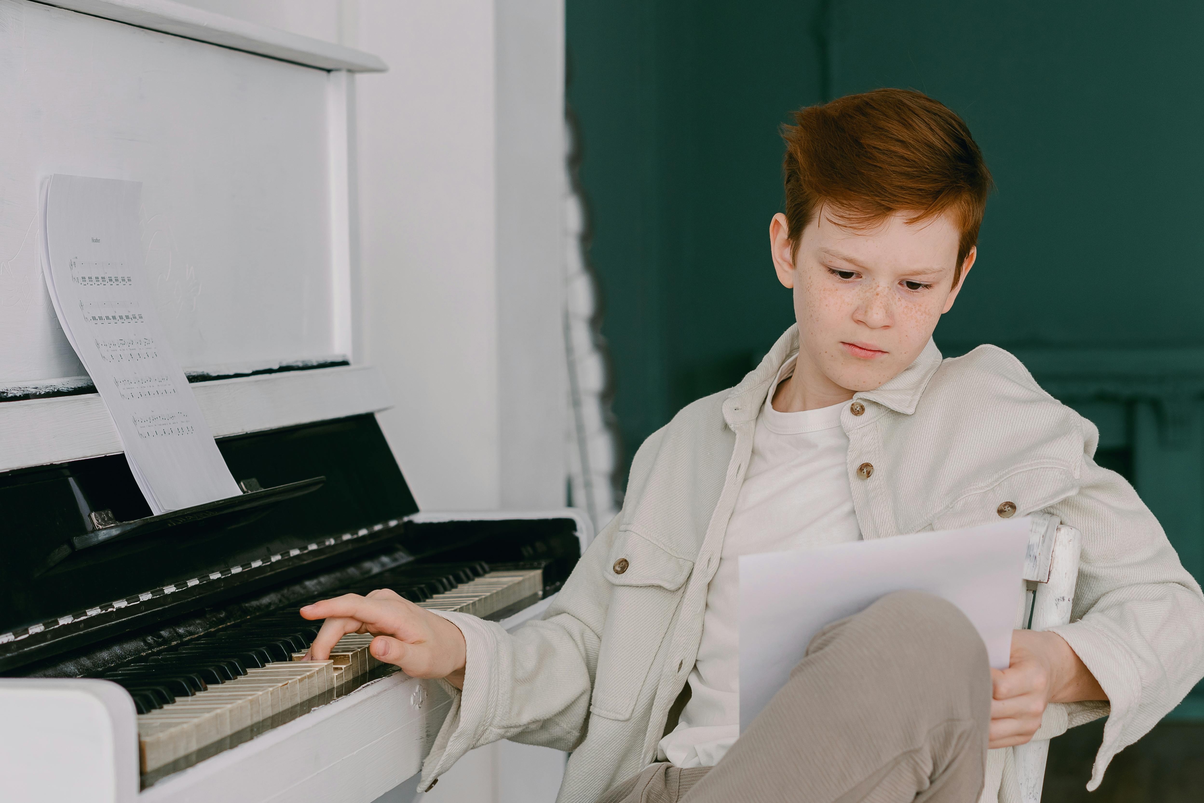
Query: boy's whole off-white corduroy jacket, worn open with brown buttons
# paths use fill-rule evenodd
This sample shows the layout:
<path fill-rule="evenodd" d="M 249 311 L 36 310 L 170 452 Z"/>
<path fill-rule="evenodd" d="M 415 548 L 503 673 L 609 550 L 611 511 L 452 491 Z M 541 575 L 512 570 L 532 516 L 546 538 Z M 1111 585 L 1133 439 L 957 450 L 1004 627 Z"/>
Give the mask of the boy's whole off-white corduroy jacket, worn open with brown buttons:
<path fill-rule="evenodd" d="M 701 398 L 636 454 L 622 510 L 598 533 L 541 621 L 464 631 L 464 691 L 423 768 L 430 784 L 497 739 L 571 750 L 561 803 L 591 803 L 656 754 L 694 666 L 707 584 L 752 449 L 768 385 L 798 350 L 791 327 L 730 391 Z M 864 538 L 1046 512 L 1082 532 L 1072 624 L 1056 628 L 1110 703 L 1054 704 L 1041 738 L 1109 714 L 1090 789 L 1111 757 L 1204 675 L 1204 597 L 1162 527 L 1119 474 L 1092 462 L 1098 432 L 984 346 L 942 360 L 929 342 L 903 373 L 846 408 L 849 483 Z M 868 479 L 857 473 L 872 464 Z M 622 573 L 613 571 L 619 559 Z M 445 685 L 445 684 L 444 684 Z M 984 801 L 1011 803 L 1011 750 L 992 750 Z"/>

